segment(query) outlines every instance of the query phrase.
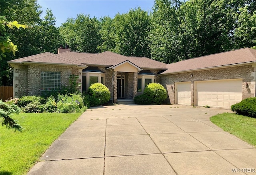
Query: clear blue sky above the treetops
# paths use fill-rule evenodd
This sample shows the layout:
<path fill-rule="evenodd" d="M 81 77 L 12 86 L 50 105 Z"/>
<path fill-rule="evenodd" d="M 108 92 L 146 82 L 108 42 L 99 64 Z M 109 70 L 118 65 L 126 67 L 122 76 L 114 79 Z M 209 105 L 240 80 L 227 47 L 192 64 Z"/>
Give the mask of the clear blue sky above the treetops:
<path fill-rule="evenodd" d="M 66 22 L 67 18 L 76 18 L 77 14 L 90 14 L 90 17 L 103 16 L 114 18 L 118 12 L 127 13 L 131 8 L 141 7 L 152 12 L 154 0 L 38 0 L 43 10 L 41 18 L 50 8 L 56 18 L 56 26 Z"/>

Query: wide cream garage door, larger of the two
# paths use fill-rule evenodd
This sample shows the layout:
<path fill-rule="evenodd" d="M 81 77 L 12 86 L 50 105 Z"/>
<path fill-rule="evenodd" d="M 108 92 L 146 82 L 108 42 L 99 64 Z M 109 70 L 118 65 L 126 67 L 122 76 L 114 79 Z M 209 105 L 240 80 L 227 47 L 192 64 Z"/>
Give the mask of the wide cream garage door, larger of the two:
<path fill-rule="evenodd" d="M 195 81 L 196 105 L 230 108 L 242 100 L 242 79 Z"/>

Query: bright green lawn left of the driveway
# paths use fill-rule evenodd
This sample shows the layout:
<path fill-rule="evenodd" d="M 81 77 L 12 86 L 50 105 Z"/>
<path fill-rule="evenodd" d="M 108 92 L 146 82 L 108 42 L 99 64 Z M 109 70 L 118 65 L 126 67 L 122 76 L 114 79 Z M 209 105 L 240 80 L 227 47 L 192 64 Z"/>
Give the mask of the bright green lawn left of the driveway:
<path fill-rule="evenodd" d="M 18 120 L 24 131 L 0 126 L 0 174 L 23 175 L 81 114 L 21 113 Z"/>

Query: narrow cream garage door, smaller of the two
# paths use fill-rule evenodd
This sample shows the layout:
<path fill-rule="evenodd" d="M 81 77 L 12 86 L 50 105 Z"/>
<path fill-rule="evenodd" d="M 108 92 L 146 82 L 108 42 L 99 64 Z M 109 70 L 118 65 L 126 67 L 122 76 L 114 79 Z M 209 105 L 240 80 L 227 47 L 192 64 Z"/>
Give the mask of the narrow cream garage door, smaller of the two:
<path fill-rule="evenodd" d="M 190 82 L 175 83 L 175 89 L 176 89 L 175 103 L 191 105 L 190 85 L 191 85 Z"/>

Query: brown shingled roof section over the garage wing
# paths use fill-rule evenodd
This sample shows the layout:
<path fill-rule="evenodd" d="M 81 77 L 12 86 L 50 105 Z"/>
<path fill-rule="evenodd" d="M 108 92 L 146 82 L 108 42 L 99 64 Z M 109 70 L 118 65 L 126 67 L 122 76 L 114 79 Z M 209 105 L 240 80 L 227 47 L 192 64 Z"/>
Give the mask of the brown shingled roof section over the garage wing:
<path fill-rule="evenodd" d="M 212 69 L 243 63 L 256 63 L 256 49 L 246 47 L 243 49 L 179 61 L 177 63 L 166 65 L 165 68 L 167 70 L 160 73 L 160 75 L 196 71 L 200 69 Z"/>

